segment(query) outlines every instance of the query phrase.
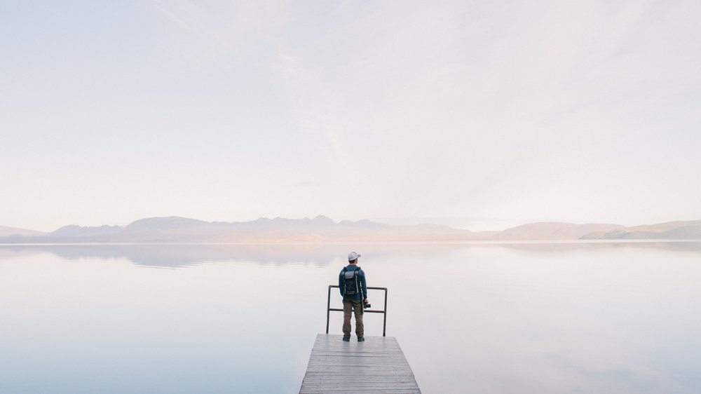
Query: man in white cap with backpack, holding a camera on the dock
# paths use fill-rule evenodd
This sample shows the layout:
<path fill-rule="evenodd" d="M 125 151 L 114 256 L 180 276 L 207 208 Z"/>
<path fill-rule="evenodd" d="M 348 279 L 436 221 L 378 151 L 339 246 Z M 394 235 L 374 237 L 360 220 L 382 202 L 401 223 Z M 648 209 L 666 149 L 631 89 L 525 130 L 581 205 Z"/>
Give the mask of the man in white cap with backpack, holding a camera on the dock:
<path fill-rule="evenodd" d="M 351 340 L 351 310 L 355 315 L 355 334 L 358 342 L 365 341 L 362 325 L 362 304 L 367 304 L 365 272 L 358 266 L 360 254 L 348 253 L 348 266 L 339 273 L 339 290 L 343 297 L 343 341 Z M 362 304 L 361 304 L 362 301 Z"/>

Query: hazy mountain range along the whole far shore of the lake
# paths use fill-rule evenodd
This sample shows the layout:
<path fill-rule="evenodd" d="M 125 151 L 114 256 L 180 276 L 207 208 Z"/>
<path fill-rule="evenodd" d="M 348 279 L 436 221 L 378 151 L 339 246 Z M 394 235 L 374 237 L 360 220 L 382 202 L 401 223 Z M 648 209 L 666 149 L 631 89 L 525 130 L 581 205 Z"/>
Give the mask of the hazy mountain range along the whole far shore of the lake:
<path fill-rule="evenodd" d="M 620 224 L 537 222 L 503 231 L 469 231 L 435 224 L 393 226 L 369 220 L 334 222 L 261 217 L 251 222 L 205 222 L 149 217 L 127 226 L 63 226 L 43 233 L 0 226 L 0 243 L 250 243 L 461 240 L 701 239 L 701 220 L 625 227 Z"/>

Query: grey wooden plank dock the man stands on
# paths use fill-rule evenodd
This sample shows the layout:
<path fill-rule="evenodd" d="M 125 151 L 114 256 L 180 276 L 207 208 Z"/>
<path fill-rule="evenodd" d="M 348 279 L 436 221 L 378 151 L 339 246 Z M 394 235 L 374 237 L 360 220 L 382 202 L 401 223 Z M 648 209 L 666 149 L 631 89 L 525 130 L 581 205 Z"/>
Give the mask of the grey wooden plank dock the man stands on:
<path fill-rule="evenodd" d="M 393 337 L 318 334 L 299 393 L 421 393 Z"/>

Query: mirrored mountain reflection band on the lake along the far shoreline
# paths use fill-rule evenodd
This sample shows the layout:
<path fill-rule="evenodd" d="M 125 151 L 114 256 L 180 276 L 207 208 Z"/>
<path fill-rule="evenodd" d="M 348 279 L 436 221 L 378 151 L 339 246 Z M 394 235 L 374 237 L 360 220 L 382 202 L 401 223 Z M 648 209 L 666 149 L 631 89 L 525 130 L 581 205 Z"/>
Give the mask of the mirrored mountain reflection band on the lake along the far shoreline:
<path fill-rule="evenodd" d="M 562 253 L 593 250 L 653 249 L 676 252 L 701 252 L 699 241 L 678 242 L 517 242 L 517 243 L 393 243 L 393 244 L 66 244 L 0 245 L 0 258 L 36 253 L 51 253 L 63 259 L 126 259 L 145 267 L 184 268 L 216 261 L 253 264 L 309 264 L 328 266 L 343 262 L 346 250 L 371 252 L 376 260 L 407 255 L 433 260 L 445 252 L 470 248 L 495 248 L 514 252 Z"/>

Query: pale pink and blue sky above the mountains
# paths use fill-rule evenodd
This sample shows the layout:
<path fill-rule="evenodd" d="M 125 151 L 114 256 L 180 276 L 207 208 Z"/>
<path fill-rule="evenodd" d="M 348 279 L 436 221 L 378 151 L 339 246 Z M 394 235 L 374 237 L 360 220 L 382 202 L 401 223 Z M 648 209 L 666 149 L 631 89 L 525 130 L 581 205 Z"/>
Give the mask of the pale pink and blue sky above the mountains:
<path fill-rule="evenodd" d="M 1 1 L 0 225 L 701 219 L 699 15 Z"/>

